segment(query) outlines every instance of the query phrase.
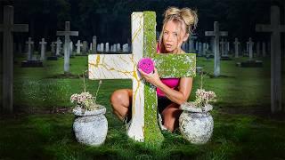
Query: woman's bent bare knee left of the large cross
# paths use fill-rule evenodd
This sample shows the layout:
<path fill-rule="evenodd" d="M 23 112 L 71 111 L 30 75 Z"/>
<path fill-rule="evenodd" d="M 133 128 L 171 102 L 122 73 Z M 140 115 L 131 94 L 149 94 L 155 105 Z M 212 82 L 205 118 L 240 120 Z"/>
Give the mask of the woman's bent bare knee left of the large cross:
<path fill-rule="evenodd" d="M 120 89 L 113 92 L 110 97 L 113 113 L 121 121 L 125 119 L 127 111 L 132 105 L 132 94 L 133 92 L 130 89 Z"/>

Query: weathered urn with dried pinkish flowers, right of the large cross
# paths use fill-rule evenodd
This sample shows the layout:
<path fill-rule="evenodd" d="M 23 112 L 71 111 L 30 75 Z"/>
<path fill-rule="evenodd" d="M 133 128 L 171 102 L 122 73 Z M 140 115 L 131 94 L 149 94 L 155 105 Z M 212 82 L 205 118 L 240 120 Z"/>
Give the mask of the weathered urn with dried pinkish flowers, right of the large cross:
<path fill-rule="evenodd" d="M 196 100 L 183 103 L 180 108 L 183 113 L 179 117 L 179 130 L 183 138 L 193 144 L 204 144 L 211 138 L 214 120 L 209 103 L 215 101 L 216 94 L 202 88 L 203 75 L 201 75 L 200 88 L 196 91 Z"/>

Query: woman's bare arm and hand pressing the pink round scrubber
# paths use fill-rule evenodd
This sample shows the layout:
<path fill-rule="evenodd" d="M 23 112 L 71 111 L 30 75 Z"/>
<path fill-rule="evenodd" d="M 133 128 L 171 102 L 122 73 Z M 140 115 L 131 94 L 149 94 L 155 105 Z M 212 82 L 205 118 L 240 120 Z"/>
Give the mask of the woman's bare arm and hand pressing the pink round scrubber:
<path fill-rule="evenodd" d="M 163 84 L 160 81 L 159 74 L 156 68 L 154 68 L 153 74 L 146 74 L 141 69 L 139 69 L 141 76 L 148 81 L 149 83 L 159 87 L 159 89 L 165 93 L 167 98 L 179 105 L 183 104 L 186 100 L 188 100 L 191 94 L 192 88 L 192 80 L 191 77 L 183 77 L 180 79 L 180 84 L 178 87 L 178 91 L 175 91 L 169 88 L 166 84 Z"/>

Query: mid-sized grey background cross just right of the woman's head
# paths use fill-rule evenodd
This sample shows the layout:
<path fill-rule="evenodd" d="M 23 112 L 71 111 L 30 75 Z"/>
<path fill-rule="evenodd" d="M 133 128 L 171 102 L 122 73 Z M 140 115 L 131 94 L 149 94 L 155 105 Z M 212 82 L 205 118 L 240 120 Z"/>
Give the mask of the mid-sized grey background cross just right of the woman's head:
<path fill-rule="evenodd" d="M 219 23 L 217 21 L 214 22 L 214 31 L 206 31 L 205 36 L 215 36 L 214 43 L 214 76 L 220 76 L 220 52 L 219 52 L 219 37 L 220 36 L 228 36 L 228 32 L 219 31 Z"/>

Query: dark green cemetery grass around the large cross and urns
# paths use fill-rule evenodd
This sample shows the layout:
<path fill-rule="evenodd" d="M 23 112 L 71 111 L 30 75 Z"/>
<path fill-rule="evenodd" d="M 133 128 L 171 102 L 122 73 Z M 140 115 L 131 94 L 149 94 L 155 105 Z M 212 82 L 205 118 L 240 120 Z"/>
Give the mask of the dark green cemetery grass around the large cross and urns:
<path fill-rule="evenodd" d="M 69 102 L 72 93 L 83 91 L 83 81 L 78 75 L 87 69 L 87 57 L 70 59 L 71 76 L 62 76 L 63 59 L 45 61 L 44 68 L 20 68 L 20 63 L 17 63 L 14 67 L 16 113 L 0 118 L 0 158 L 285 158 L 284 119 L 269 114 L 269 60 L 264 59 L 263 68 L 235 67 L 235 61 L 240 60 L 245 59 L 222 61 L 222 75 L 212 78 L 213 60 L 198 59 L 198 66 L 208 73 L 204 74 L 203 88 L 215 91 L 218 96 L 212 111 L 215 127 L 211 140 L 205 145 L 191 145 L 178 131 L 163 132 L 165 141 L 160 148 L 129 140 L 125 125 L 111 112 L 111 92 L 130 88 L 130 80 L 102 81 L 97 102 L 107 108 L 108 135 L 101 147 L 88 147 L 77 143 L 74 138 L 74 116 L 70 113 L 72 104 Z M 194 79 L 191 100 L 199 88 L 199 78 Z M 89 92 L 94 93 L 97 85 L 98 81 L 86 80 Z"/>

